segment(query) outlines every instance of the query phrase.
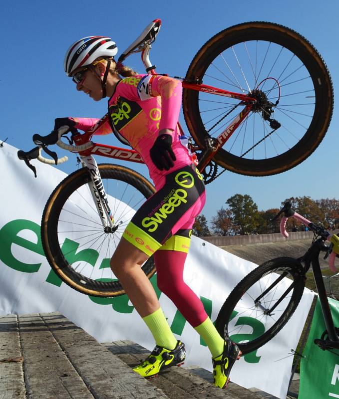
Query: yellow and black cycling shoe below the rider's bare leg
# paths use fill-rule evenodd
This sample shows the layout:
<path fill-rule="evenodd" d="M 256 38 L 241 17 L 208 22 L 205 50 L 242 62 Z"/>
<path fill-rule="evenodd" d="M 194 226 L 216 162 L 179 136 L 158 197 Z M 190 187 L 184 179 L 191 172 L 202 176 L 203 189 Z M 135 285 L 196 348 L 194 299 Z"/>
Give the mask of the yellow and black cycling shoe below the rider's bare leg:
<path fill-rule="evenodd" d="M 185 344 L 180 341 L 172 350 L 157 345 L 144 362 L 133 367 L 133 371 L 140 374 L 141 377 L 150 378 L 169 367 L 182 365 L 185 358 Z"/>

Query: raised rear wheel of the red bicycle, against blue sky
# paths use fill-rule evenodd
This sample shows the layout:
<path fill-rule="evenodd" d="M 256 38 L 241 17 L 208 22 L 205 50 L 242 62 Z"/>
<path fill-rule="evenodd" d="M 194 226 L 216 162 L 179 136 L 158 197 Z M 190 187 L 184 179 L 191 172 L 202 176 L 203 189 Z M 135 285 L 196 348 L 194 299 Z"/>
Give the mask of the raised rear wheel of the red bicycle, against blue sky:
<path fill-rule="evenodd" d="M 263 46 L 263 52 L 259 54 L 261 64 L 257 65 L 251 58 L 255 56 L 257 61 L 258 46 Z M 283 50 L 281 53 L 280 49 Z M 220 54 L 222 56 L 218 57 Z M 276 55 L 275 61 L 278 62 L 274 62 Z M 239 64 L 242 62 L 242 70 L 238 68 L 237 61 Z M 300 63 L 303 65 L 297 69 Z M 286 64 L 288 65 L 284 71 Z M 231 68 L 232 65 L 234 70 Z M 256 87 L 262 78 L 264 79 L 262 85 Z M 280 89 L 272 78 L 280 82 L 281 96 Z M 241 175 L 268 176 L 297 166 L 319 146 L 331 122 L 334 97 L 332 80 L 326 64 L 307 39 L 294 30 L 276 23 L 241 23 L 217 33 L 195 55 L 186 73 L 186 80 L 199 80 L 204 84 L 238 93 L 241 93 L 239 87 L 234 86 L 242 86 L 240 82 L 244 81 L 245 94 L 248 94 L 249 90 L 259 88 L 271 103 L 280 98 L 279 104 L 272 107 L 275 112 L 271 115 L 272 119 L 281 123 L 279 129 L 260 142 L 273 129 L 263 118 L 263 108 L 260 110 L 252 108 L 242 125 L 233 132 L 223 148 L 215 155 L 214 161 L 218 165 Z M 272 88 L 264 90 L 265 85 L 266 88 L 271 86 Z M 201 148 L 205 147 L 206 138 L 216 138 L 244 109 L 244 105 L 241 105 L 222 120 L 222 117 L 234 105 L 240 104 L 240 101 L 211 94 L 213 93 L 187 88 L 183 91 L 186 124 Z M 313 97 L 315 97 L 314 102 Z M 292 104 L 289 104 L 290 102 Z M 210 103 L 217 105 L 210 106 Z M 210 109 L 205 109 L 206 107 Z M 265 115 L 268 116 L 268 113 Z M 213 127 L 218 120 L 220 123 Z M 248 126 L 249 130 L 252 130 L 252 125 L 253 132 L 247 134 Z M 258 142 L 260 144 L 246 154 L 246 151 Z"/>

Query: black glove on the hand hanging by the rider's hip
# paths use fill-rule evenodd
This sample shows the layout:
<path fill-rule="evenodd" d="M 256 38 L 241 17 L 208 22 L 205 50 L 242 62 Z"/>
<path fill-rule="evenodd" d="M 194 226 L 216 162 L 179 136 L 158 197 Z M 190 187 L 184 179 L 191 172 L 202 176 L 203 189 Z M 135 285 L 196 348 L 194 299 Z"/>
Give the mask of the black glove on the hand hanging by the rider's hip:
<path fill-rule="evenodd" d="M 176 160 L 172 150 L 172 136 L 169 134 L 158 136 L 149 153 L 153 164 L 160 171 L 169 171 L 174 166 L 173 161 Z"/>

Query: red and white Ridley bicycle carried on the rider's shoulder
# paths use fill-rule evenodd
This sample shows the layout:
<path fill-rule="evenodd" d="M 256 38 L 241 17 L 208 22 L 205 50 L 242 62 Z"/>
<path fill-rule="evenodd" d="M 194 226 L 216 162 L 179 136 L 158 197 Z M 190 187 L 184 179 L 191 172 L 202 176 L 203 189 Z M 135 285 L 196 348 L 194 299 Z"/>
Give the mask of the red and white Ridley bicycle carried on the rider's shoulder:
<path fill-rule="evenodd" d="M 149 53 L 160 26 L 160 19 L 151 22 L 119 61 L 141 52 L 146 72 L 156 74 Z M 241 23 L 219 32 L 198 51 L 186 77 L 177 78 L 183 85 L 191 150 L 206 184 L 220 175 L 218 167 L 249 176 L 295 167 L 317 148 L 331 121 L 333 88 L 324 61 L 303 36 L 275 23 Z M 73 131 L 66 144 L 61 127 L 44 137 L 34 135 L 38 147 L 18 156 L 35 173 L 31 159 L 51 164 L 66 160 L 58 160 L 48 145 L 79 154 L 83 168 L 63 180 L 45 206 L 43 247 L 66 284 L 110 297 L 124 291 L 111 274 L 109 258 L 154 187 L 126 167 L 97 165 L 93 155 L 142 160 L 134 150 L 92 142 L 94 134 Z M 53 160 L 42 157 L 41 149 Z M 154 274 L 152 258 L 143 270 L 149 277 Z"/>

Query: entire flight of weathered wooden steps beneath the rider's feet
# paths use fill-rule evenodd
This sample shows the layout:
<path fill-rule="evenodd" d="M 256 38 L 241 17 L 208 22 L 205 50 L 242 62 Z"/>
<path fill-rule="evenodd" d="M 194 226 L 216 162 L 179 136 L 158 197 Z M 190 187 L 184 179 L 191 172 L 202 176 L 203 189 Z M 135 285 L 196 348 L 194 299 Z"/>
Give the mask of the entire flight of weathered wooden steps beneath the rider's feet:
<path fill-rule="evenodd" d="M 0 398 L 270 398 L 232 382 L 220 390 L 199 367 L 171 367 L 145 380 L 131 367 L 149 354 L 131 341 L 99 344 L 60 313 L 0 317 Z"/>

